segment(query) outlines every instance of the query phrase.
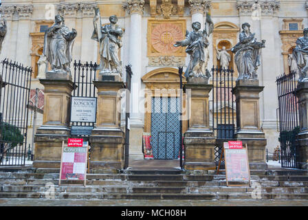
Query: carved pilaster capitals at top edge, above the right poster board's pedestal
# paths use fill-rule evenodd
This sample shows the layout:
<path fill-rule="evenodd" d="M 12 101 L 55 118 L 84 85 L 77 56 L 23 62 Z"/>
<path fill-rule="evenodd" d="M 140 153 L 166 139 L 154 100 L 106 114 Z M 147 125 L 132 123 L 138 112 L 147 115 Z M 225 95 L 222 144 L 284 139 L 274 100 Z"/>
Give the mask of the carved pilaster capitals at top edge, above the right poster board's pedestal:
<path fill-rule="evenodd" d="M 260 8 L 263 15 L 274 15 L 281 8 L 281 2 L 276 0 L 236 0 L 236 8 L 242 15 L 252 15 L 252 12 L 254 12 L 254 10 L 257 10 L 257 8 Z"/>

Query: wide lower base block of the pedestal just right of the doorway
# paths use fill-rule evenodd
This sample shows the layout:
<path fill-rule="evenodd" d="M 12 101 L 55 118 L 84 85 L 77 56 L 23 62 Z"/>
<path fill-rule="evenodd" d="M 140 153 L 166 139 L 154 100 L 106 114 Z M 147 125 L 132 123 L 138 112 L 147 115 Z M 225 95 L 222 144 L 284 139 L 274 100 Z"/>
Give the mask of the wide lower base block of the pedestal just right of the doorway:
<path fill-rule="evenodd" d="M 186 170 L 215 170 L 214 133 L 208 129 L 189 129 L 184 134 Z"/>

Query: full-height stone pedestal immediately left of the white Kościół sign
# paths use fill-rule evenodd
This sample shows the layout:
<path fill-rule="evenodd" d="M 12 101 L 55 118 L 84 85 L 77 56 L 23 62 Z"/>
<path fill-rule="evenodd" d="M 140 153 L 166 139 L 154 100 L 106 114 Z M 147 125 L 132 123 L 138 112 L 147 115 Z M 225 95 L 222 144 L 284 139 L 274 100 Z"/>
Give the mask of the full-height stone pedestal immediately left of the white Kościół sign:
<path fill-rule="evenodd" d="M 62 141 L 70 135 L 70 102 L 74 85 L 72 80 L 41 79 L 45 87 L 43 125 L 34 138 L 35 168 L 60 168 Z"/>

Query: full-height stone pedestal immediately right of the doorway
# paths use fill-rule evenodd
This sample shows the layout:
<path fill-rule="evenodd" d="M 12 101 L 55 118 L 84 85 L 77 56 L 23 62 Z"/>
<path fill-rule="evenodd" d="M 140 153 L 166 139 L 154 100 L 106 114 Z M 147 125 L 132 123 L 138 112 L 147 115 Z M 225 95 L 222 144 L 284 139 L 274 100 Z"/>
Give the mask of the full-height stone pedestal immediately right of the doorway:
<path fill-rule="evenodd" d="M 200 78 L 203 81 L 202 78 Z M 201 82 L 200 81 L 200 82 Z M 184 168 L 186 170 L 212 170 L 215 169 L 214 163 L 214 133 L 209 126 L 209 104 L 208 94 L 212 85 L 198 83 L 195 80 L 189 80 L 184 86 L 186 96 L 191 89 L 191 99 L 188 100 L 189 124 L 188 131 L 184 134 L 184 144 L 186 147 Z"/>

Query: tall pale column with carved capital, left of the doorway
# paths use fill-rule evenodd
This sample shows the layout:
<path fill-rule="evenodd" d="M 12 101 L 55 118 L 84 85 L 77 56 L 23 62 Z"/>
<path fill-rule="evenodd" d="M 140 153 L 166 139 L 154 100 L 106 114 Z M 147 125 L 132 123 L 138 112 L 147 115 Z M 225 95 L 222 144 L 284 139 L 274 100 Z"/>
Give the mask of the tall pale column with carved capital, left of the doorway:
<path fill-rule="evenodd" d="M 128 11 L 131 14 L 129 30 L 129 63 L 133 72 L 131 78 L 131 131 L 129 155 L 132 159 L 143 159 L 142 133 L 144 122 L 140 100 L 142 77 L 142 14 L 144 0 L 128 0 Z"/>

